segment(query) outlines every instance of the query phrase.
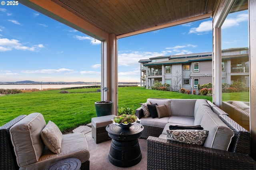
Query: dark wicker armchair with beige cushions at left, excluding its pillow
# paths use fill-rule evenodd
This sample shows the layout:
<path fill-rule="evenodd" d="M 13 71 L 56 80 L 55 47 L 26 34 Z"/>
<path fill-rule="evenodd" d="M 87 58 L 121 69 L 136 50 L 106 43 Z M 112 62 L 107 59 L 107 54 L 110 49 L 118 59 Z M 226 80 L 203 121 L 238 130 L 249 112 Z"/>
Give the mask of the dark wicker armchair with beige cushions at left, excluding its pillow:
<path fill-rule="evenodd" d="M 45 127 L 41 113 L 20 115 L 0 127 L 0 169 L 44 170 L 70 157 L 81 161 L 81 170 L 90 168 L 90 151 L 83 133 L 62 135 L 61 148 L 56 154 L 42 141 L 40 132 Z"/>

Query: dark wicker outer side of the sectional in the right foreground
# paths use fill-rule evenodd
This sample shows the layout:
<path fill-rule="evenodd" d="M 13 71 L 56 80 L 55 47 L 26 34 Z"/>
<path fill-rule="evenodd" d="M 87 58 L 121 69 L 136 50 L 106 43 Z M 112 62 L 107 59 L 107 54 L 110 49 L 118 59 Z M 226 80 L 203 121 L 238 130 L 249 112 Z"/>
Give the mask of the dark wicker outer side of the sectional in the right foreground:
<path fill-rule="evenodd" d="M 248 155 L 198 145 L 147 139 L 147 168 L 154 169 L 256 169 Z"/>

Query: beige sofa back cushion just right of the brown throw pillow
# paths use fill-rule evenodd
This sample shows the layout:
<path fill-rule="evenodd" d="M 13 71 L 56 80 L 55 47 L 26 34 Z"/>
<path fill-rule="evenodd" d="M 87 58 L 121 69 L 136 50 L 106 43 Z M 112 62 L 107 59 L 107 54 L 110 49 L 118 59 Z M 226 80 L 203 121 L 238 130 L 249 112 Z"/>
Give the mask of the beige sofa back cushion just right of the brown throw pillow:
<path fill-rule="evenodd" d="M 194 117 L 196 99 L 171 99 L 171 115 Z"/>

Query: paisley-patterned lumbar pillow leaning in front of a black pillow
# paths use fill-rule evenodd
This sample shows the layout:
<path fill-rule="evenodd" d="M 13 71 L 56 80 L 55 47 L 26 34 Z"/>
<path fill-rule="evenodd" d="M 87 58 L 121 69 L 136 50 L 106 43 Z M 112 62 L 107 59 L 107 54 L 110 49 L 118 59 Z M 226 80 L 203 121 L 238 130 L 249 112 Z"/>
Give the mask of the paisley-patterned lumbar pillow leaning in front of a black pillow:
<path fill-rule="evenodd" d="M 188 144 L 204 145 L 209 133 L 206 130 L 167 130 L 167 139 Z"/>

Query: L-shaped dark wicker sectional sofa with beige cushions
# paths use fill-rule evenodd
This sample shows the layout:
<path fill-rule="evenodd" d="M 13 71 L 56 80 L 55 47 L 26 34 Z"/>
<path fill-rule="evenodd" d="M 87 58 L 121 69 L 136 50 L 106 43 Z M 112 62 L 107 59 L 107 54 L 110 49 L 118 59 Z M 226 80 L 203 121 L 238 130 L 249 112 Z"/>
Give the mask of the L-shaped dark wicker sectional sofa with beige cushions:
<path fill-rule="evenodd" d="M 143 104 L 136 109 L 144 126 L 142 137 L 147 138 L 148 169 L 256 168 L 256 162 L 249 156 L 250 133 L 210 101 L 148 99 L 146 103 L 166 105 L 169 109 L 169 115 L 154 119 L 144 117 Z M 203 146 L 168 140 L 166 130 L 170 125 L 200 125 L 209 134 Z"/>

